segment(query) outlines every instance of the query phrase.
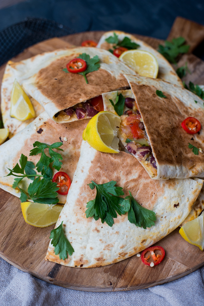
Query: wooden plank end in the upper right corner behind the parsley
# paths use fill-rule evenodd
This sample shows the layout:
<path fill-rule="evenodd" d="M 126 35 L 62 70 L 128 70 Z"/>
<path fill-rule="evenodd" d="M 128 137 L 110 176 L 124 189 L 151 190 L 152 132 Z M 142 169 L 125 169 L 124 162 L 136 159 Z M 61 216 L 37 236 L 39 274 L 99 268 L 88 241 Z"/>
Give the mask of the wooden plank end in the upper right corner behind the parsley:
<path fill-rule="evenodd" d="M 167 40 L 171 41 L 180 36 L 190 45 L 188 53 L 191 53 L 204 39 L 204 26 L 183 17 L 176 17 Z"/>

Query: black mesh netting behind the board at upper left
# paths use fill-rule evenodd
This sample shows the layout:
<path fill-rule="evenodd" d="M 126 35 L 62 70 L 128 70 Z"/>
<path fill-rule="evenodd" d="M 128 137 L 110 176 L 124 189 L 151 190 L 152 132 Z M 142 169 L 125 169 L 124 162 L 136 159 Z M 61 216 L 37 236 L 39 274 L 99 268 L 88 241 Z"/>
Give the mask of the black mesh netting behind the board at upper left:
<path fill-rule="evenodd" d="M 13 24 L 0 32 L 0 66 L 35 43 L 74 32 L 55 21 L 41 18 L 27 18 Z"/>

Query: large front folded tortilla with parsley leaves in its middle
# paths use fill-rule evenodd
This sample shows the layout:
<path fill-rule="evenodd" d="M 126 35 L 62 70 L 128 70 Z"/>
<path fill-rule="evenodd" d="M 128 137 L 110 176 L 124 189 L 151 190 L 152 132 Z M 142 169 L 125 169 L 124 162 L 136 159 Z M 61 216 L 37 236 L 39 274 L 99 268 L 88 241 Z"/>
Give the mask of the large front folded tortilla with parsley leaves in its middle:
<path fill-rule="evenodd" d="M 96 196 L 91 181 L 103 184 L 117 181 L 124 196 L 130 190 L 135 200 L 156 213 L 155 226 L 143 229 L 128 221 L 127 213 L 117 215 L 112 227 L 86 218 L 87 202 Z M 142 251 L 171 233 L 187 217 L 203 180 L 152 180 L 140 163 L 130 154 L 109 154 L 96 151 L 83 141 L 80 159 L 69 189 L 67 202 L 56 223 L 63 221 L 65 236 L 74 252 L 65 260 L 55 255 L 49 244 L 45 259 L 69 267 L 100 267 L 116 263 Z"/>

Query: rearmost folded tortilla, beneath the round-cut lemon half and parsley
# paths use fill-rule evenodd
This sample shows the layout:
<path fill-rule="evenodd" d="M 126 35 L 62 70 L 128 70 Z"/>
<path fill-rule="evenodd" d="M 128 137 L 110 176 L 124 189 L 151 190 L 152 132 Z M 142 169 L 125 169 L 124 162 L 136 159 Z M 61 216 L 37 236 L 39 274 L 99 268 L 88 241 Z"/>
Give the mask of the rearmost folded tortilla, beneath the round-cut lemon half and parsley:
<path fill-rule="evenodd" d="M 137 39 L 135 36 L 129 33 L 121 32 L 121 31 L 106 32 L 100 38 L 97 48 L 106 49 L 106 50 L 113 49 L 112 48 L 113 45 L 107 43 L 106 38 L 113 36 L 114 32 L 116 33 L 116 35 L 118 35 L 119 41 L 122 41 L 124 37 L 128 37 L 131 39 L 132 42 L 137 43 L 140 46 L 137 48 L 137 50 L 148 51 L 154 55 L 159 65 L 159 71 L 158 71 L 158 76 L 157 76 L 159 79 L 162 79 L 169 83 L 176 84 L 177 86 L 183 87 L 181 79 L 178 77 L 172 65 L 163 57 L 163 55 L 161 55 L 161 53 L 159 53 L 157 50 L 152 48 L 150 45 L 148 45 L 144 41 Z"/>

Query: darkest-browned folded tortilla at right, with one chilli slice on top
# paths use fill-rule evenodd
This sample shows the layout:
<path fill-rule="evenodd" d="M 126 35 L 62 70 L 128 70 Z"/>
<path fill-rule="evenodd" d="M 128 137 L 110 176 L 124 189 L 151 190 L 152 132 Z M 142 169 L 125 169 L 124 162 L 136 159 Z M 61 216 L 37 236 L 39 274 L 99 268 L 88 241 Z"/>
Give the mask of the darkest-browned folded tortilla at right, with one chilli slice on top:
<path fill-rule="evenodd" d="M 156 180 L 204 177 L 203 100 L 187 89 L 159 79 L 130 75 L 125 77 L 135 96 L 156 161 L 157 175 L 142 163 L 150 177 Z M 160 98 L 156 90 L 162 91 L 167 98 Z M 199 133 L 188 134 L 181 127 L 181 122 L 187 117 L 200 121 Z M 125 135 L 121 141 L 124 146 L 127 145 Z M 189 143 L 202 152 L 195 155 L 188 147 Z"/>

